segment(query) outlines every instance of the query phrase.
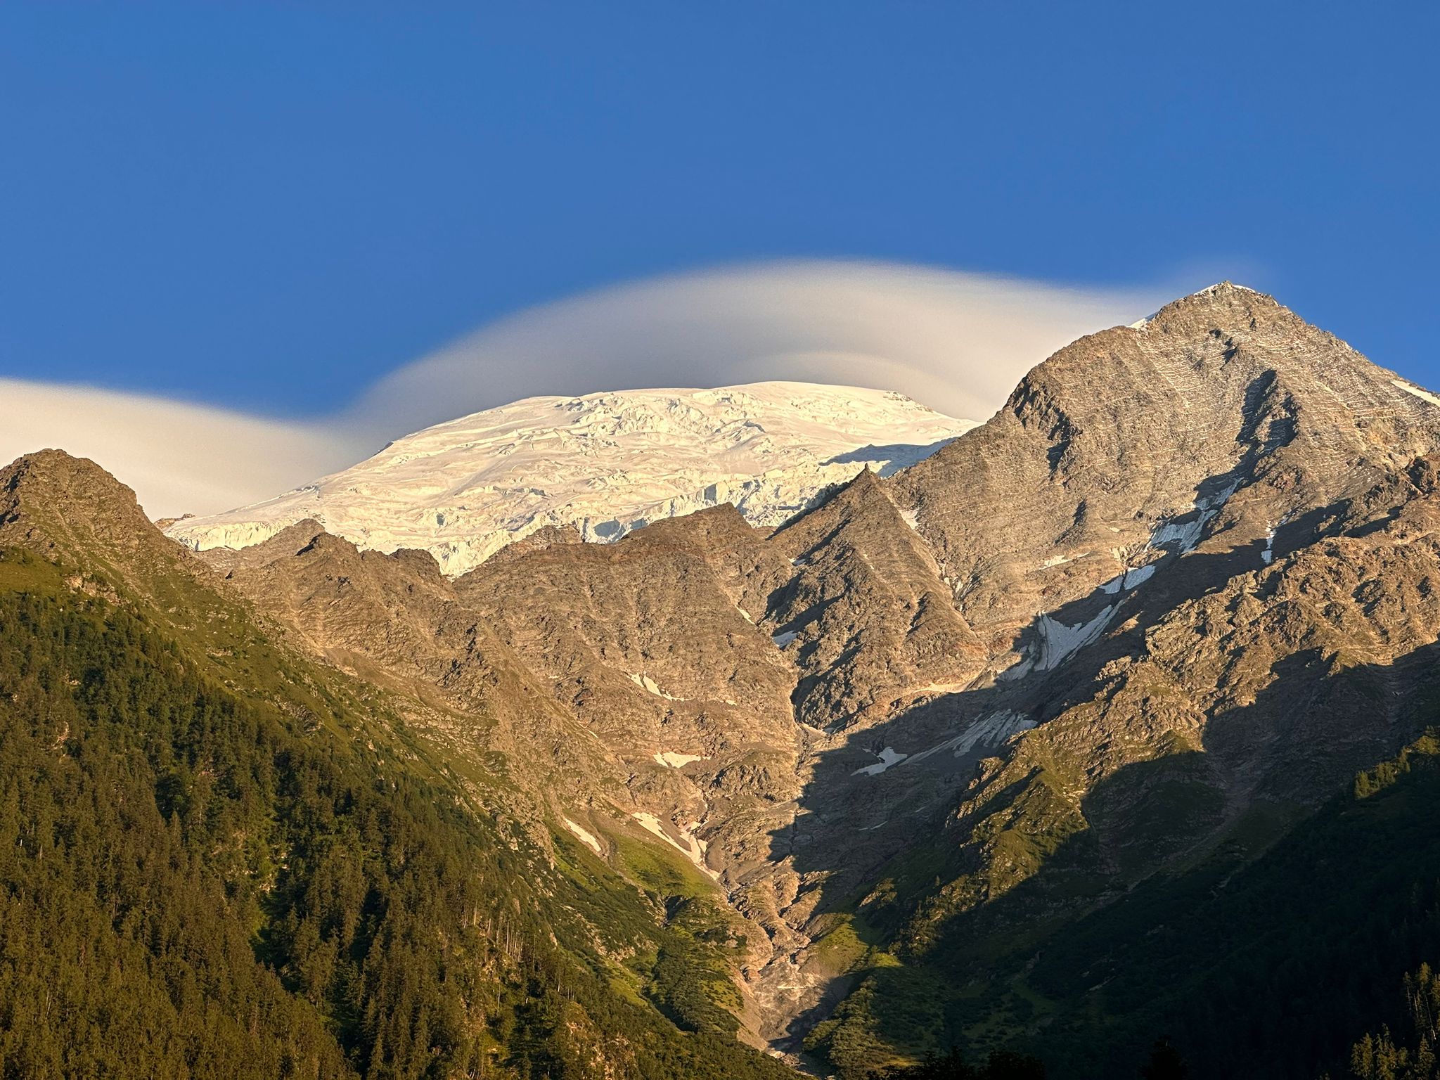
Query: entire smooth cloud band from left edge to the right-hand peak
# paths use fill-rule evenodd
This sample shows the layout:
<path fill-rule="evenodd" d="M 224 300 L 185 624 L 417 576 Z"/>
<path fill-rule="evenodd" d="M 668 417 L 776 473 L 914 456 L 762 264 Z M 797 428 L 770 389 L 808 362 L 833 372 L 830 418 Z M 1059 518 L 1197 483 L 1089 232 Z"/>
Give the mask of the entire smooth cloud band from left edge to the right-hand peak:
<path fill-rule="evenodd" d="M 896 264 L 732 266 L 521 311 L 312 420 L 0 380 L 0 461 L 62 446 L 108 468 L 160 517 L 268 498 L 387 439 L 536 395 L 792 379 L 900 390 L 985 419 L 1056 348 L 1166 298 Z"/>

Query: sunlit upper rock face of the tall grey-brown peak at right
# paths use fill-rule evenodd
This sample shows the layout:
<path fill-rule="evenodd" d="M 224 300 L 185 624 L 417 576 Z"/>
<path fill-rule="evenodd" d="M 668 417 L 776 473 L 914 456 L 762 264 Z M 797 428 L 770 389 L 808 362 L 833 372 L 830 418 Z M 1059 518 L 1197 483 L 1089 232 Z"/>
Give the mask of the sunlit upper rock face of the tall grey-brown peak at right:
<path fill-rule="evenodd" d="M 1037 611 L 1158 553 L 1253 543 L 1437 444 L 1426 392 L 1221 282 L 1061 348 L 888 484 L 1002 651 Z"/>

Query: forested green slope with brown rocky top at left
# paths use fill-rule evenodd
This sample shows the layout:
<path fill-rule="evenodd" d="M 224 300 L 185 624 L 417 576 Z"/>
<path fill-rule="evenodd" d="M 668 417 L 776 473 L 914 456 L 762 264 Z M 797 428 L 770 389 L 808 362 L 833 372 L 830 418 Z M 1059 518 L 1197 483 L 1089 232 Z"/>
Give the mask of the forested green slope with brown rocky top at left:
<path fill-rule="evenodd" d="M 0 472 L 0 1074 L 788 1074 L 707 996 L 713 920 L 177 554 L 89 462 Z"/>

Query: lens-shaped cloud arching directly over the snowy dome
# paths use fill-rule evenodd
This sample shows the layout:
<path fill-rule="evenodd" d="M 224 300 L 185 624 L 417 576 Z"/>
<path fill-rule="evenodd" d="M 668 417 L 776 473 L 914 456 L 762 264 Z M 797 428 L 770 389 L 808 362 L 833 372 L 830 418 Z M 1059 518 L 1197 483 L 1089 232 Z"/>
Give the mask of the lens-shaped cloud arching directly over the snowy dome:
<path fill-rule="evenodd" d="M 1168 298 L 886 262 L 730 266 L 503 318 L 382 379 L 350 415 L 400 435 L 449 419 L 456 402 L 793 379 L 986 419 L 1056 348 Z"/>

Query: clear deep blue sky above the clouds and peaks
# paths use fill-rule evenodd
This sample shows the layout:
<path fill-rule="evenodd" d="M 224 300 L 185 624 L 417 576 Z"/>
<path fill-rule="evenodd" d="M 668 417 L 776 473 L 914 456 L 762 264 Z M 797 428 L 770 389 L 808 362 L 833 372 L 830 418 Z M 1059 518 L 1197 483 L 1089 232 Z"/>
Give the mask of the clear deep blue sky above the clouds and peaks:
<path fill-rule="evenodd" d="M 1230 276 L 1434 386 L 1437 13 L 12 0 L 0 376 L 305 415 L 527 305 L 842 256 Z"/>

